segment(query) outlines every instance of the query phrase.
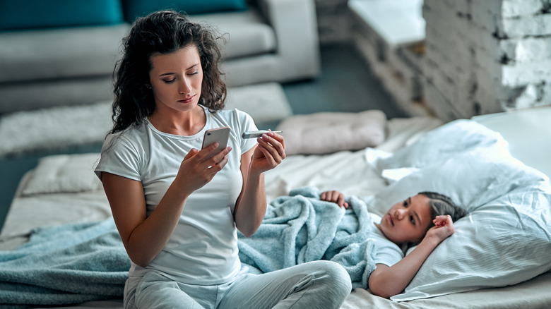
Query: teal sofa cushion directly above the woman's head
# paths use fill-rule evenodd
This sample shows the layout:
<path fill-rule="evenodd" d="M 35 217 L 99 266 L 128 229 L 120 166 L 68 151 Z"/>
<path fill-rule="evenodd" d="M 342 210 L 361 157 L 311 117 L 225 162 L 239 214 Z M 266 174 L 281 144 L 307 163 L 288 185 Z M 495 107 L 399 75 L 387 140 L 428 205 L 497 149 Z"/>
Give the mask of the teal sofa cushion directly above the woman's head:
<path fill-rule="evenodd" d="M 122 3 L 124 18 L 129 23 L 137 17 L 170 8 L 189 15 L 247 9 L 246 0 L 123 0 Z"/>

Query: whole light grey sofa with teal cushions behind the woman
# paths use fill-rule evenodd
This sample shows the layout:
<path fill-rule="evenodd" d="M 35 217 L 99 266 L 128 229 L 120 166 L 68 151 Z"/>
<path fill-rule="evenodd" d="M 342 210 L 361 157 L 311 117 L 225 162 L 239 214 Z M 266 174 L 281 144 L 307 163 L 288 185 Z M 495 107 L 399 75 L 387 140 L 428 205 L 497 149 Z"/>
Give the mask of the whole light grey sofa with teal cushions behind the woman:
<path fill-rule="evenodd" d="M 0 115 L 112 99 L 122 37 L 136 15 L 167 8 L 163 2 L 180 3 L 170 7 L 227 33 L 229 87 L 319 74 L 314 0 L 210 0 L 208 6 L 205 0 L 4 0 Z M 203 8 L 186 8 L 189 3 Z M 214 7 L 224 3 L 233 7 Z"/>

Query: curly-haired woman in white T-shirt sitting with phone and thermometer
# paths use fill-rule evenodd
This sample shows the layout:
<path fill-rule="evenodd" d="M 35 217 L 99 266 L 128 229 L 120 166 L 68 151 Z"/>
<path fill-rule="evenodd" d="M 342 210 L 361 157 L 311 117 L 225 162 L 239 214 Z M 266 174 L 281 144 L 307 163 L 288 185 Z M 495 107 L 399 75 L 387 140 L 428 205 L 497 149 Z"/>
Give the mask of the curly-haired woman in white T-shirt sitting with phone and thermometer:
<path fill-rule="evenodd" d="M 213 32 L 174 11 L 136 20 L 117 68 L 114 128 L 96 168 L 132 266 L 125 308 L 338 308 L 350 277 L 333 262 L 247 274 L 237 229 L 266 212 L 263 172 L 285 158 L 283 136 L 225 111 Z M 266 107 L 269 109 L 269 107 Z M 228 147 L 203 150 L 210 128 Z"/>

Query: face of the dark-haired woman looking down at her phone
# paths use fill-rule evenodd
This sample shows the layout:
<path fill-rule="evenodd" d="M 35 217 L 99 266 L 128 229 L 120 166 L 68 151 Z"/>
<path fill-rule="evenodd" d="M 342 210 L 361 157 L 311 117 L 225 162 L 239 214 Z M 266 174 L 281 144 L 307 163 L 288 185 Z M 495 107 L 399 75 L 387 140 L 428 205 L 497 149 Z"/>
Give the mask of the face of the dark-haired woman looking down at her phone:
<path fill-rule="evenodd" d="M 153 54 L 149 80 L 157 109 L 190 111 L 199 103 L 203 68 L 191 44 L 171 54 Z"/>

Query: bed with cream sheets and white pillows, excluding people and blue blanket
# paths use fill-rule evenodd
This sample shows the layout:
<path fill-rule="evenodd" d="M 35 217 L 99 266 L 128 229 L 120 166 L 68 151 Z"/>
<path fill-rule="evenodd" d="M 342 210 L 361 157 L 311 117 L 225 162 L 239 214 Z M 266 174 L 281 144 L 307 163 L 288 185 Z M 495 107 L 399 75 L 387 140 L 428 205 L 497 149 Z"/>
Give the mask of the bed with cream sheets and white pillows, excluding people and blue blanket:
<path fill-rule="evenodd" d="M 268 201 L 295 188 L 340 190 L 380 215 L 420 190 L 438 190 L 470 212 L 456 222 L 456 234 L 434 250 L 405 293 L 388 300 L 354 289 L 342 308 L 551 305 L 549 178 L 513 157 L 508 141 L 480 122 L 390 119 L 384 123 L 386 137 L 376 147 L 293 154 L 266 173 Z M 11 252 L 31 232 L 48 226 L 108 219 L 107 198 L 91 173 L 96 160 L 97 154 L 41 159 L 20 181 L 0 234 L 0 250 Z M 122 308 L 122 300 L 69 306 Z"/>

